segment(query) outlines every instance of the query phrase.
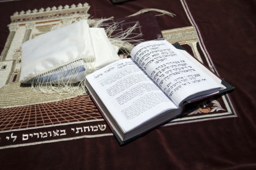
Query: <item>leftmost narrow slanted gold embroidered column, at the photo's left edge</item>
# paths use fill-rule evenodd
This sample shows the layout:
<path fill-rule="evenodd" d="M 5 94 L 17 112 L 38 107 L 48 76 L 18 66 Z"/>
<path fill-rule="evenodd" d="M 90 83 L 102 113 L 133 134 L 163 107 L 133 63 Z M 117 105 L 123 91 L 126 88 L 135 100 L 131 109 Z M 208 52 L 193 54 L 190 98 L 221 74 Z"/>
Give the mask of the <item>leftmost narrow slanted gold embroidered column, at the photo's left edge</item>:
<path fill-rule="evenodd" d="M 11 42 L 13 41 L 14 35 L 16 33 L 16 30 L 19 28 L 19 24 L 15 24 L 15 25 L 9 25 L 9 36 L 7 38 L 6 44 L 5 44 L 5 48 L 3 49 L 3 52 L 1 54 L 1 58 L 0 61 L 5 61 L 6 55 L 10 49 L 11 46 Z"/>

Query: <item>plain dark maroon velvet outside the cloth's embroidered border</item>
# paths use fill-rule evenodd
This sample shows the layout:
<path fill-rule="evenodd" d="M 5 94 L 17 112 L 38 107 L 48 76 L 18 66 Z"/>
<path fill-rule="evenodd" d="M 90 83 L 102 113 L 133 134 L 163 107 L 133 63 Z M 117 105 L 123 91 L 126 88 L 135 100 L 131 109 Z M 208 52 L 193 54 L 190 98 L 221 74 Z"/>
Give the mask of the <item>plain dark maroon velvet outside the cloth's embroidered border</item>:
<path fill-rule="evenodd" d="M 0 52 L 15 11 L 80 2 L 0 2 Z M 191 26 L 179 0 L 86 2 L 94 18 L 123 18 L 142 8 L 159 8 L 176 14 L 157 17 L 161 30 Z M 186 2 L 216 70 L 236 87 L 229 96 L 238 117 L 158 128 L 122 147 L 106 136 L 2 149 L 1 169 L 256 169 L 256 2 Z"/>

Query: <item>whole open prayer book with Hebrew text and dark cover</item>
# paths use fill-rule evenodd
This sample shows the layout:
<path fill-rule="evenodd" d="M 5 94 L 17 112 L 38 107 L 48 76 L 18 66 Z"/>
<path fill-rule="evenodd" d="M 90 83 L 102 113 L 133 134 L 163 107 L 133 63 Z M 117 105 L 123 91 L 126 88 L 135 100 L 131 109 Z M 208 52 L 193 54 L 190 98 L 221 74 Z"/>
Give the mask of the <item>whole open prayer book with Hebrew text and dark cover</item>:
<path fill-rule="evenodd" d="M 86 76 L 94 103 L 121 145 L 179 117 L 185 104 L 233 89 L 166 40 L 143 42 L 131 57 Z"/>

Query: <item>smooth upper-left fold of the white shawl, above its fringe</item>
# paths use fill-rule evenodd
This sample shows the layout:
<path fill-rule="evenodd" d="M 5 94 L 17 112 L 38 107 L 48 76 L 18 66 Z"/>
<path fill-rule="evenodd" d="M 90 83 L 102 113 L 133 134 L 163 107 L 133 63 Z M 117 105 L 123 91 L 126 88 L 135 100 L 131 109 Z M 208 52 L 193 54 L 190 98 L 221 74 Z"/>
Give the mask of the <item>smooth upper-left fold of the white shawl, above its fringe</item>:
<path fill-rule="evenodd" d="M 22 44 L 20 82 L 27 83 L 38 75 L 83 59 L 96 57 L 86 20 L 44 33 Z"/>

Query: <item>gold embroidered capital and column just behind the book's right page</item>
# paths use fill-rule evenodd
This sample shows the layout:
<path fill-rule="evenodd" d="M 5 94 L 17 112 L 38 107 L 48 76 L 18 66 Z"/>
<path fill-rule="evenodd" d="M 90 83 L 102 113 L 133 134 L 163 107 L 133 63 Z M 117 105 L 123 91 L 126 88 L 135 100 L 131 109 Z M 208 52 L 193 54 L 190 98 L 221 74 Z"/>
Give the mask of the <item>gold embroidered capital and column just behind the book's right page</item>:
<path fill-rule="evenodd" d="M 203 62 L 196 47 L 198 40 L 196 30 L 193 26 L 164 30 L 162 34 L 164 39 L 170 43 L 179 42 L 181 45 L 188 44 L 191 46 L 194 56 L 199 59 L 199 61 Z"/>

